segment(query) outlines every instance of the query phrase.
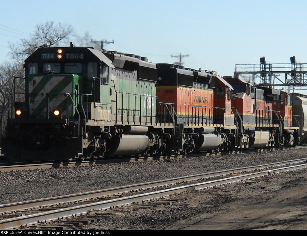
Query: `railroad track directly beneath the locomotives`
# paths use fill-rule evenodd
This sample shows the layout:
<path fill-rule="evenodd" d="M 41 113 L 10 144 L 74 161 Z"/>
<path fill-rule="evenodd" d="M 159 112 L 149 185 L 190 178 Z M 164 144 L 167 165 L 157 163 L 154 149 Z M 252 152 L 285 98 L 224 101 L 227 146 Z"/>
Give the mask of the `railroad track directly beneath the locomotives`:
<path fill-rule="evenodd" d="M 270 148 L 270 149 L 249 149 L 249 150 L 238 150 L 238 151 L 228 151 L 228 152 L 207 152 L 207 153 L 195 153 L 186 155 L 169 155 L 169 156 L 159 156 L 159 157 L 127 157 L 127 158 L 105 158 L 95 161 L 75 161 L 75 162 L 35 162 L 35 163 L 2 163 L 0 164 L 0 172 L 4 171 L 15 171 L 15 170 L 27 170 L 27 169 L 43 169 L 43 168 L 60 168 L 68 166 L 89 166 L 89 165 L 100 165 L 109 163 L 123 163 L 123 162 L 137 162 L 137 161 L 150 161 L 150 160 L 171 160 L 179 158 L 188 157 L 207 157 L 216 155 L 229 155 L 229 154 L 243 154 L 252 152 L 265 152 L 265 151 L 280 151 L 280 150 L 294 150 L 307 148 L 307 145 L 297 146 L 297 147 L 281 147 L 281 148 Z"/>

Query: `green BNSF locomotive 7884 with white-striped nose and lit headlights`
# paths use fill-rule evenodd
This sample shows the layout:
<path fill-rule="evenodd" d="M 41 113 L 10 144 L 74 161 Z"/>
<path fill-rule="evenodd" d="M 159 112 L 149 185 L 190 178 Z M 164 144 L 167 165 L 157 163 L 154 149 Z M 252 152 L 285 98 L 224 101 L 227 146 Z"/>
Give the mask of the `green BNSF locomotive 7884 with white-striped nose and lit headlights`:
<path fill-rule="evenodd" d="M 96 159 L 159 145 L 145 135 L 157 124 L 157 69 L 146 58 L 71 44 L 40 47 L 24 67 L 25 100 L 12 101 L 1 143 L 10 159 Z"/>

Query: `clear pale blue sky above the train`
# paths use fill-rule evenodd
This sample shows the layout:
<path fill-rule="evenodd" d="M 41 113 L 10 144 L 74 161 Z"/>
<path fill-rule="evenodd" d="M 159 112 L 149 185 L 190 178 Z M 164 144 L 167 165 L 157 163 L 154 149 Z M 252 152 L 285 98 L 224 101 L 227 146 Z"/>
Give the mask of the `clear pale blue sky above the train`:
<path fill-rule="evenodd" d="M 91 0 L 2 1 L 0 63 L 8 42 L 33 33 L 46 21 L 72 25 L 93 40 L 114 40 L 105 49 L 146 56 L 154 63 L 233 75 L 237 63 L 307 63 L 307 1 L 283 0 Z M 67 45 L 68 46 L 68 45 Z M 78 46 L 78 45 L 76 45 Z"/>

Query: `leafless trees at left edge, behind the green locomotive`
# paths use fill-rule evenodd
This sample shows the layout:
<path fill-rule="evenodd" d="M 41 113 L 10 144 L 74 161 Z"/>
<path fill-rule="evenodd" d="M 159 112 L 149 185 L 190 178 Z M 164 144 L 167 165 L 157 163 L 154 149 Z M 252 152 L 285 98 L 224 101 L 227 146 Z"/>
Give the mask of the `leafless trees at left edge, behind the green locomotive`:
<path fill-rule="evenodd" d="M 41 45 L 46 44 L 47 47 L 61 46 L 60 44 L 68 44 L 69 37 L 72 36 L 73 29 L 71 25 L 62 23 L 55 23 L 54 21 L 47 21 L 36 25 L 35 30 L 30 34 L 29 38 L 21 39 L 15 43 L 9 43 L 11 48 L 10 56 L 11 62 L 4 62 L 0 64 L 0 122 L 7 119 L 7 107 L 9 104 L 9 94 L 16 97 L 16 101 L 24 101 L 25 80 L 23 63 L 25 59 L 31 55 Z M 82 38 L 87 39 L 88 34 Z M 74 36 L 78 39 L 78 36 Z M 14 83 L 14 78 L 15 82 Z M 15 88 L 15 91 L 13 89 Z M 12 93 L 16 92 L 16 93 Z M 11 100 L 12 101 L 12 100 Z M 14 106 L 14 104 L 11 104 Z M 2 127 L 0 129 L 3 134 Z"/>

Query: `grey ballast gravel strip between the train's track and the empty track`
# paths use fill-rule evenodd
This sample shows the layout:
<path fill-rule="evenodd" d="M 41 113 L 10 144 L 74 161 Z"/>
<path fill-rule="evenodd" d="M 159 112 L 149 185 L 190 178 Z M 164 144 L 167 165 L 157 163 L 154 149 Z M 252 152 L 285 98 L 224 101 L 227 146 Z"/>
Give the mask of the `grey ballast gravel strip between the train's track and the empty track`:
<path fill-rule="evenodd" d="M 306 157 L 306 149 L 0 172 L 0 204 Z"/>

